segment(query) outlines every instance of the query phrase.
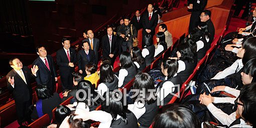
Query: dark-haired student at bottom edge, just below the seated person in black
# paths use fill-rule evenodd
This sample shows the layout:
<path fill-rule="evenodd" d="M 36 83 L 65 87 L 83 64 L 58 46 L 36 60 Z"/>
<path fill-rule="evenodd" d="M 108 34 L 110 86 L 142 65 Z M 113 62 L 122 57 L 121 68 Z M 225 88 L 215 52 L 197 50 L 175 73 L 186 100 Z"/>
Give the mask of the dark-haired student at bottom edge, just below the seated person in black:
<path fill-rule="evenodd" d="M 59 128 L 62 121 L 71 114 L 71 110 L 67 106 L 59 105 L 54 114 L 56 124 L 50 124 L 47 128 Z"/>

